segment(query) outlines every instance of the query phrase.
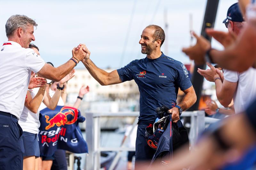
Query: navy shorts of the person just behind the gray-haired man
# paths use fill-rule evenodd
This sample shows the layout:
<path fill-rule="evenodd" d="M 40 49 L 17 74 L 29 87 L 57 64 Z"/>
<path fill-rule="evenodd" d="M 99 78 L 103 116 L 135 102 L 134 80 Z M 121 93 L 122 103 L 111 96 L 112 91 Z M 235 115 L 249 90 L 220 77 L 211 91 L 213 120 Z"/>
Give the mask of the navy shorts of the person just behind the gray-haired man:
<path fill-rule="evenodd" d="M 22 140 L 25 149 L 24 156 L 39 157 L 40 151 L 37 134 L 23 131 Z"/>

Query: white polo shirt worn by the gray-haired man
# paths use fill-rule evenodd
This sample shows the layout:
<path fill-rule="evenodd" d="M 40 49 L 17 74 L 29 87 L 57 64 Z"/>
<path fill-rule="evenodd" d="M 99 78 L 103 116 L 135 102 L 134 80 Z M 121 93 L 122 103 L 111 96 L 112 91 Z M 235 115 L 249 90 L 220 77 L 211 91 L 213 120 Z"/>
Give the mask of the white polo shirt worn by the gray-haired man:
<path fill-rule="evenodd" d="M 45 62 L 30 48 L 6 41 L 0 51 L 0 111 L 15 115 L 22 113 L 31 70 L 41 70 Z"/>

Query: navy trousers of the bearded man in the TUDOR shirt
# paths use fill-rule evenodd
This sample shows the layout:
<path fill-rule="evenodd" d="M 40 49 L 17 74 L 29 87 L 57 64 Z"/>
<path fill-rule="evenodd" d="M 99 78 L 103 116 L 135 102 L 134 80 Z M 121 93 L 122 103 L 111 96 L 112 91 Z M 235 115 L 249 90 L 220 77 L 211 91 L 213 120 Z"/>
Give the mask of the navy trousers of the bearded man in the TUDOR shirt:
<path fill-rule="evenodd" d="M 136 147 L 135 147 L 135 169 L 139 166 L 149 166 L 156 150 L 148 146 L 145 136 L 145 128 L 149 125 L 146 122 L 139 122 L 137 129 Z"/>

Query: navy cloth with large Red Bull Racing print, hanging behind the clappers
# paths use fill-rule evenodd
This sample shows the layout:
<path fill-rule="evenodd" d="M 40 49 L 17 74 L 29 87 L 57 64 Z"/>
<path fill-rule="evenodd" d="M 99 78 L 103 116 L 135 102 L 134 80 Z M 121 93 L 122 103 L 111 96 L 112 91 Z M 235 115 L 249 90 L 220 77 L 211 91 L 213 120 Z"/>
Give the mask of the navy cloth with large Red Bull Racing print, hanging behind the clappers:
<path fill-rule="evenodd" d="M 73 107 L 57 106 L 55 110 L 40 111 L 38 132 L 40 154 L 52 156 L 57 149 L 73 153 L 88 153 L 87 143 L 78 126 L 85 117 Z"/>

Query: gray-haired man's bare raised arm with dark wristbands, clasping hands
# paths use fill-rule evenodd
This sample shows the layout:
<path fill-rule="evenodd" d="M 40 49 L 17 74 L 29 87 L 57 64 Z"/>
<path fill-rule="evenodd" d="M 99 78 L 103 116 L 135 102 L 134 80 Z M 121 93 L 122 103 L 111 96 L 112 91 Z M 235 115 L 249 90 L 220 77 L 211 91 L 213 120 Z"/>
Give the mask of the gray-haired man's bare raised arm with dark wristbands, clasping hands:
<path fill-rule="evenodd" d="M 81 45 L 81 47 L 83 48 L 84 45 Z M 84 59 L 85 52 L 82 50 L 82 48 L 78 49 L 75 47 L 72 50 L 73 60 L 68 60 L 65 64 L 62 64 L 57 68 L 52 67 L 50 64 L 46 63 L 38 73 L 47 79 L 53 81 L 60 81 L 76 66 L 75 61 L 78 63 L 79 61 Z"/>

